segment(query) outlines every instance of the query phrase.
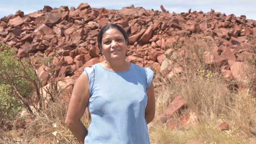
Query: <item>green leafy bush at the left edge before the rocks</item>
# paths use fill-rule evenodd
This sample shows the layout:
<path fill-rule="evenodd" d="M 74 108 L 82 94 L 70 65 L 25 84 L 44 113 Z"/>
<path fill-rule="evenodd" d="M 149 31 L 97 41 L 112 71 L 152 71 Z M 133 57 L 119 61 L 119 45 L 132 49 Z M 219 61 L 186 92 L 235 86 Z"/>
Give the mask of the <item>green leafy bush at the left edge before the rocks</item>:
<path fill-rule="evenodd" d="M 18 113 L 24 103 L 23 98 L 33 91 L 29 77 L 33 71 L 29 65 L 19 60 L 15 50 L 0 46 L 0 121 Z"/>

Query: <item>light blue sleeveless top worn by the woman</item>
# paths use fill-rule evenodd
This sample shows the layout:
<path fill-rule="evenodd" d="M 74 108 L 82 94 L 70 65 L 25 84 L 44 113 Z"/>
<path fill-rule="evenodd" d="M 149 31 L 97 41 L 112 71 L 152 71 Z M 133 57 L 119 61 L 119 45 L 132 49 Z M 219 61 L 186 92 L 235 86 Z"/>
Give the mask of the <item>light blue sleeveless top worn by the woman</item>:
<path fill-rule="evenodd" d="M 147 92 L 154 72 L 131 63 L 115 72 L 94 64 L 86 67 L 91 97 L 91 123 L 85 144 L 149 144 L 145 116 Z"/>

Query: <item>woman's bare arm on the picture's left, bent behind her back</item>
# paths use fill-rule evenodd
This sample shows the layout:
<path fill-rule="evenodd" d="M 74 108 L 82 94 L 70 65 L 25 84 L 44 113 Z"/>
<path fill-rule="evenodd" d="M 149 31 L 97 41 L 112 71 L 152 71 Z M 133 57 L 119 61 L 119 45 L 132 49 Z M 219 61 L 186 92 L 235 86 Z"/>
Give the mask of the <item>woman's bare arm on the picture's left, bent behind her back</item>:
<path fill-rule="evenodd" d="M 87 134 L 87 129 L 80 121 L 90 98 L 89 82 L 87 74 L 84 71 L 75 83 L 70 98 L 65 124 L 75 137 L 84 143 L 84 138 Z"/>

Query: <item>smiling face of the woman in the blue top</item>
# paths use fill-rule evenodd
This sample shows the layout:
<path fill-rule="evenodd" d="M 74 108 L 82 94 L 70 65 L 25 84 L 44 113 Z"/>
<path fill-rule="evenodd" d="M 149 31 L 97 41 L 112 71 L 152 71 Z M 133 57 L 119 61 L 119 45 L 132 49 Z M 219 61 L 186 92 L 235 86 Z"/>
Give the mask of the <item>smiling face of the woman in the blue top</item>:
<path fill-rule="evenodd" d="M 123 34 L 115 28 L 110 28 L 102 37 L 102 53 L 107 60 L 125 59 L 127 42 Z"/>

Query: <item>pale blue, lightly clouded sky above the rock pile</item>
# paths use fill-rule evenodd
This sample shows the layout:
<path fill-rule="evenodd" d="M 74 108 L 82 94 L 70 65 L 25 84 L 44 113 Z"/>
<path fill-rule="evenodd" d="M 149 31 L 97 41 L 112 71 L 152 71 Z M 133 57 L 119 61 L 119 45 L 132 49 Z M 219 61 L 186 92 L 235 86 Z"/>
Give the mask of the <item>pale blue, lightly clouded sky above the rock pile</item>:
<path fill-rule="evenodd" d="M 256 0 L 0 0 L 0 18 L 15 14 L 21 10 L 25 15 L 42 10 L 44 5 L 52 8 L 68 6 L 77 8 L 80 3 L 88 3 L 93 8 L 106 8 L 121 10 L 123 7 L 134 5 L 134 7 L 143 7 L 146 10 L 162 11 L 162 5 L 170 13 L 202 11 L 225 13 L 226 15 L 234 14 L 237 17 L 246 15 L 246 19 L 256 20 Z"/>

